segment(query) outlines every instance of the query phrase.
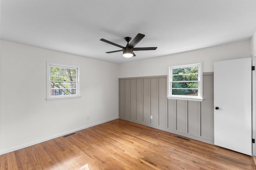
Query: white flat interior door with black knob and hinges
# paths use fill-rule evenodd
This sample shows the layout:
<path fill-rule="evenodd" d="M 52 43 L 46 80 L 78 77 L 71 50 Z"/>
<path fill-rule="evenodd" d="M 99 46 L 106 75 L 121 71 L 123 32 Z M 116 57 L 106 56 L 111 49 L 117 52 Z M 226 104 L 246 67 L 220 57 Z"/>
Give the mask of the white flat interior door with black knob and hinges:
<path fill-rule="evenodd" d="M 252 155 L 252 59 L 214 62 L 214 144 Z"/>

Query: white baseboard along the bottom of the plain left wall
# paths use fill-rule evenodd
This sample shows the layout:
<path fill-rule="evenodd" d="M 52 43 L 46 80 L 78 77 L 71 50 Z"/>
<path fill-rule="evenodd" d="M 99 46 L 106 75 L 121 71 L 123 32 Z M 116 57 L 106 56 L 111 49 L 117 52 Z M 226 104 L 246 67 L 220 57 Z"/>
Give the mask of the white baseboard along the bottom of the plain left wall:
<path fill-rule="evenodd" d="M 19 150 L 19 149 L 22 149 L 22 148 L 26 148 L 26 147 L 30 147 L 32 145 L 36 145 L 38 143 L 42 143 L 42 142 L 45 142 L 45 141 L 49 141 L 51 139 L 54 139 L 54 138 L 57 138 L 57 137 L 61 137 L 61 136 L 64 136 L 64 135 L 68 135 L 70 133 L 74 133 L 74 132 L 77 132 L 77 131 L 80 131 L 80 130 L 83 130 L 83 129 L 87 129 L 89 127 L 93 127 L 93 126 L 96 126 L 96 125 L 100 125 L 102 123 L 106 123 L 108 121 L 112 121 L 112 120 L 115 120 L 115 119 L 119 119 L 119 117 L 114 117 L 112 119 L 108 119 L 108 120 L 104 120 L 104 121 L 100 121 L 100 122 L 97 122 L 97 123 L 94 123 L 94 124 L 91 124 L 91 125 L 86 125 L 84 127 L 80 127 L 80 128 L 77 128 L 77 129 L 73 129 L 71 131 L 67 131 L 67 132 L 64 132 L 64 133 L 59 133 L 57 135 L 53 135 L 53 136 L 50 136 L 50 137 L 47 137 L 47 138 L 44 138 L 44 139 L 40 139 L 40 140 L 37 140 L 37 141 L 33 141 L 33 142 L 30 142 L 30 143 L 26 143 L 24 145 L 19 145 L 19 146 L 16 146 L 16 147 L 12 147 L 12 148 L 9 148 L 9 149 L 6 149 L 6 150 L 1 150 L 0 151 L 0 155 L 2 154 L 6 154 L 6 153 L 9 153 L 9 152 L 13 152 L 15 150 Z"/>

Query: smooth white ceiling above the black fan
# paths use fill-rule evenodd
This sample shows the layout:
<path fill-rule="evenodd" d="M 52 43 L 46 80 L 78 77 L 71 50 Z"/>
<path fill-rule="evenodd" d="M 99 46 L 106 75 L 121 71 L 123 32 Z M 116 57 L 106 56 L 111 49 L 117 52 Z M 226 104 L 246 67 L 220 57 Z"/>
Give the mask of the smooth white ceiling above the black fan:
<path fill-rule="evenodd" d="M 1 39 L 125 63 L 249 39 L 256 0 L 2 0 Z M 124 37 L 146 36 L 124 58 Z"/>

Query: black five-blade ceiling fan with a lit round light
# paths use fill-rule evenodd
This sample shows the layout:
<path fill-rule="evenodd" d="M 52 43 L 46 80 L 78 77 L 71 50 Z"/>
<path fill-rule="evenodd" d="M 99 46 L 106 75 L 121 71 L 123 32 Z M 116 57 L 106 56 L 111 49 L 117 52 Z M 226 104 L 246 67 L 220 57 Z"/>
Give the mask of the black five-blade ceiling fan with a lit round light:
<path fill-rule="evenodd" d="M 143 37 L 145 37 L 145 35 L 144 35 L 144 34 L 141 34 L 141 33 L 138 33 L 138 34 L 136 35 L 136 37 L 135 37 L 132 41 L 131 41 L 131 39 L 132 39 L 131 37 L 125 37 L 124 39 L 125 39 L 125 41 L 127 41 L 126 47 L 123 47 L 122 45 L 118 45 L 118 44 L 116 44 L 116 43 L 113 43 L 113 42 L 108 41 L 108 40 L 103 39 L 103 38 L 100 39 L 100 41 L 103 41 L 103 42 L 105 42 L 105 43 L 109 43 L 109 44 L 112 44 L 112 45 L 114 45 L 114 46 L 116 46 L 116 47 L 122 48 L 122 50 L 109 51 L 109 52 L 106 52 L 106 53 L 115 53 L 115 52 L 123 51 L 123 56 L 129 58 L 129 57 L 134 57 L 134 56 L 136 56 L 133 51 L 155 50 L 155 49 L 157 48 L 157 47 L 140 47 L 140 48 L 134 48 L 134 46 L 135 46 L 136 44 L 138 44 L 138 42 L 140 42 L 140 40 L 142 40 Z M 130 42 L 130 41 L 131 41 L 131 42 Z M 130 44 L 129 44 L 129 42 L 130 42 Z"/>

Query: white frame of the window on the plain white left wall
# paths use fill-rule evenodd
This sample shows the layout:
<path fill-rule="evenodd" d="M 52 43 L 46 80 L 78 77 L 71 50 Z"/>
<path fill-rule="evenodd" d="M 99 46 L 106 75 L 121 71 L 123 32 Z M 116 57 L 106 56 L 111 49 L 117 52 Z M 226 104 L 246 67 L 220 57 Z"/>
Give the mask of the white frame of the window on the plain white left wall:
<path fill-rule="evenodd" d="M 71 68 L 71 69 L 76 69 L 76 82 L 77 82 L 77 94 L 76 95 L 63 95 L 63 96 L 51 96 L 51 66 L 56 66 L 56 67 L 62 67 L 62 68 Z M 52 101 L 52 100 L 66 100 L 66 99 L 77 99 L 77 98 L 81 98 L 80 96 L 80 90 L 81 90 L 81 86 L 80 86 L 80 72 L 81 69 L 79 66 L 74 66 L 74 65 L 70 65 L 70 64 L 60 64 L 60 63 L 54 63 L 54 62 L 49 62 L 47 61 L 47 69 L 46 69 L 46 77 L 47 77 L 47 81 L 46 81 L 46 101 Z"/>

